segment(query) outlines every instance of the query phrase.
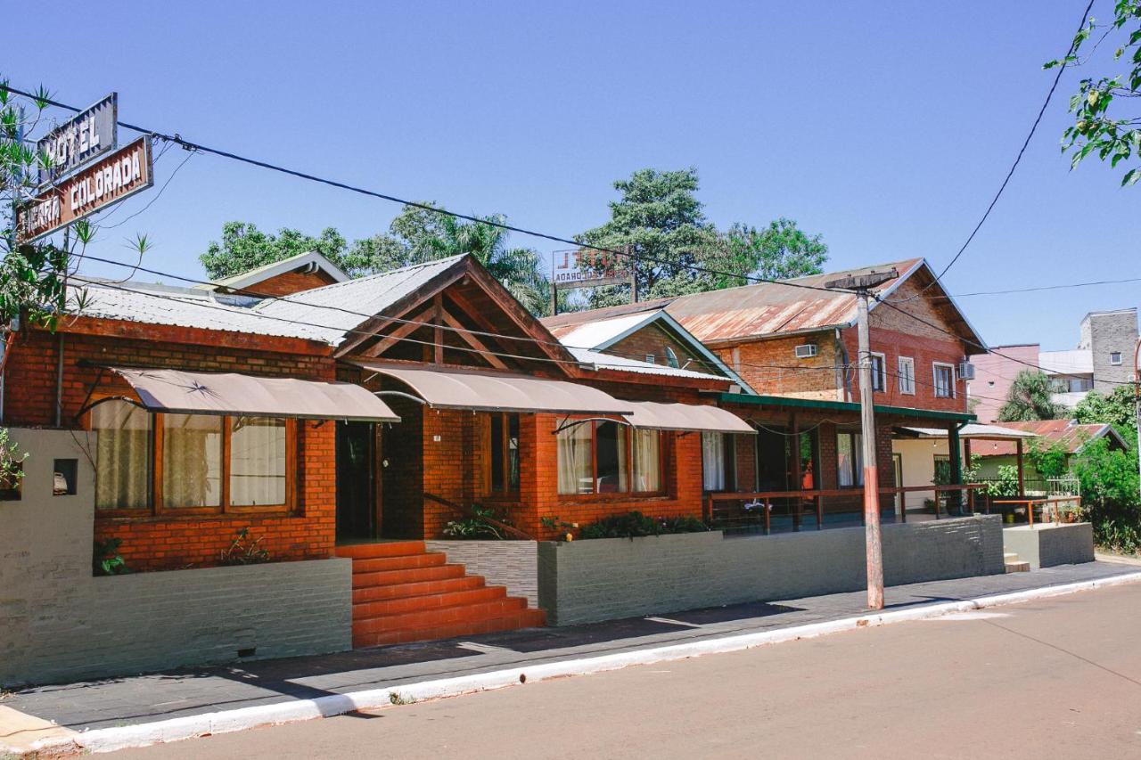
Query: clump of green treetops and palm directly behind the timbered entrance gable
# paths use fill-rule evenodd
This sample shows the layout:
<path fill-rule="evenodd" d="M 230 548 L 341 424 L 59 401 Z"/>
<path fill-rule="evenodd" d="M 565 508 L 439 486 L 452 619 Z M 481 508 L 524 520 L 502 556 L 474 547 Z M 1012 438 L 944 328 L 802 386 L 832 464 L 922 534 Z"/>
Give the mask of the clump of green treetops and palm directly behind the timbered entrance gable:
<path fill-rule="evenodd" d="M 431 204 L 428 204 L 431 205 Z M 542 254 L 533 248 L 508 245 L 508 231 L 496 227 L 505 217 L 494 215 L 484 221 L 405 207 L 388 232 L 358 240 L 349 258 L 374 272 L 470 253 L 483 264 L 523 304 L 536 315 L 550 309 L 551 283 L 543 275 Z M 367 262 L 367 264 L 365 264 Z"/>

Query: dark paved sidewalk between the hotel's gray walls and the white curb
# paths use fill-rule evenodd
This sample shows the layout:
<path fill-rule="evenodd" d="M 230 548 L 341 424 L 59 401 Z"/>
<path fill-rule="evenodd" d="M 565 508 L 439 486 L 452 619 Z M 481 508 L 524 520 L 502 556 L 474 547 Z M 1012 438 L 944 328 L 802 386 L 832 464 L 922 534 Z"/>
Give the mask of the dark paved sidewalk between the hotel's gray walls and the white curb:
<path fill-rule="evenodd" d="M 1095 561 L 1034 573 L 898 585 L 887 590 L 887 609 L 1098 580 L 1138 569 L 1134 565 Z M 589 625 L 527 629 L 470 639 L 40 686 L 7 695 L 0 704 L 76 730 L 128 726 L 790 628 L 865 612 L 863 591 L 780 599 Z"/>

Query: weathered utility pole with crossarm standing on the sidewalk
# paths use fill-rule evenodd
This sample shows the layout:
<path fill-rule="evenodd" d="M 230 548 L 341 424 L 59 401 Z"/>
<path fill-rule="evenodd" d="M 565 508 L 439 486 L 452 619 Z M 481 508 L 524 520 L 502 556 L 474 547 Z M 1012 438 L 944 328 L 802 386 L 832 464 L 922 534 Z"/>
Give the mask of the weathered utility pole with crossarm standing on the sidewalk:
<path fill-rule="evenodd" d="M 875 401 L 872 397 L 872 346 L 867 330 L 868 291 L 899 276 L 896 269 L 851 275 L 825 288 L 856 291 L 859 338 L 860 438 L 864 443 L 864 540 L 867 549 L 867 606 L 883 609 L 883 547 L 880 541 L 880 470 L 875 461 Z M 887 374 L 887 367 L 884 367 Z"/>

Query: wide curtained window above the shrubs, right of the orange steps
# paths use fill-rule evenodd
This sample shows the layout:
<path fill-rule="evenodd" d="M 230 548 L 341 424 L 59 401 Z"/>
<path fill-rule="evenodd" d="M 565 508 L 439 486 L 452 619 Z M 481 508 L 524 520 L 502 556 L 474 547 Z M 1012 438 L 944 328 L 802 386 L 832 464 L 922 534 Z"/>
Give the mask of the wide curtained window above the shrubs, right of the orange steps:
<path fill-rule="evenodd" d="M 560 494 L 663 491 L 658 430 L 633 430 L 609 420 L 572 423 L 559 430 L 557 452 Z"/>

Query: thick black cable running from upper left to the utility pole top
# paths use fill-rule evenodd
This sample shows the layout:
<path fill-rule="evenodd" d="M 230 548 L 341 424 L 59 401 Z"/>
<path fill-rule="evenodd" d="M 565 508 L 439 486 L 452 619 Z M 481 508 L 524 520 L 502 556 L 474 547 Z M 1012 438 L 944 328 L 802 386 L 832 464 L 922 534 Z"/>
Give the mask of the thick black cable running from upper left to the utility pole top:
<path fill-rule="evenodd" d="M 7 83 L 0 83 L 0 88 L 2 88 L 5 90 L 8 90 L 9 92 L 14 92 L 16 95 L 24 96 L 24 97 L 30 97 L 30 98 L 35 98 L 37 97 L 35 95 L 33 95 L 31 92 L 27 92 L 25 90 L 21 90 L 18 88 L 11 87 L 10 84 L 7 84 Z M 56 106 L 58 108 L 64 108 L 65 111 L 71 111 L 73 113 L 79 113 L 81 111 L 81 108 L 78 108 L 78 107 L 75 107 L 73 105 L 68 105 L 66 103 L 60 103 L 59 100 L 55 100 L 52 98 L 42 98 L 41 97 L 41 98 L 38 98 L 38 99 L 41 100 L 41 102 L 43 102 L 43 103 L 47 103 L 49 105 Z M 259 159 L 251 159 L 249 156 L 243 156 L 243 155 L 240 155 L 237 153 L 232 153 L 229 151 L 222 151 L 220 148 L 210 147 L 208 145 L 202 145 L 202 144 L 199 144 L 199 143 L 192 143 L 192 142 L 189 142 L 187 139 L 184 139 L 177 132 L 175 135 L 167 135 L 164 132 L 160 132 L 160 131 L 153 130 L 153 129 L 146 129 L 145 127 L 139 127 L 137 124 L 131 124 L 131 123 L 126 122 L 126 121 L 119 121 L 116 123 L 120 127 L 123 127 L 124 129 L 131 129 L 131 130 L 137 131 L 137 132 L 141 132 L 141 134 L 145 134 L 145 135 L 151 135 L 151 136 L 156 137 L 156 138 L 162 139 L 162 140 L 176 143 L 178 145 L 181 145 L 184 148 L 186 148 L 188 151 L 199 151 L 199 152 L 202 152 L 202 153 L 210 153 L 210 154 L 224 157 L 224 159 L 230 159 L 233 161 L 238 161 L 241 163 L 246 163 L 246 164 L 250 164 L 250 165 L 259 167 L 261 169 L 268 169 L 269 171 L 276 171 L 276 172 L 280 172 L 280 173 L 283 173 L 283 175 L 289 175 L 291 177 L 297 177 L 299 179 L 305 179 L 305 180 L 308 180 L 308 181 L 311 181 L 311 183 L 318 183 L 318 184 L 322 184 L 322 185 L 329 185 L 330 187 L 337 187 L 337 188 L 340 188 L 340 189 L 347 189 L 347 191 L 353 192 L 353 193 L 358 193 L 361 195 L 367 195 L 367 196 L 371 196 L 371 197 L 377 197 L 377 199 L 380 199 L 382 201 L 390 201 L 393 203 L 399 203 L 402 205 L 412 207 L 414 209 L 420 209 L 422 211 L 431 211 L 431 212 L 436 212 L 436 213 L 443 213 L 445 216 L 450 216 L 450 217 L 453 217 L 453 218 L 456 218 L 456 219 L 463 219 L 466 221 L 472 221 L 472 223 L 476 223 L 476 224 L 488 225 L 491 227 L 496 227 L 499 229 L 519 233 L 520 235 L 528 235 L 531 237 L 539 237 L 539 238 L 542 238 L 542 240 L 549 240 L 549 241 L 552 241 L 552 242 L 556 242 L 556 243 L 563 243 L 563 244 L 567 244 L 567 245 L 574 245 L 576 248 L 584 248 L 584 249 L 589 249 L 589 250 L 592 250 L 592 251 L 598 251 L 598 252 L 601 252 L 601 253 L 610 253 L 610 254 L 614 254 L 614 256 L 624 256 L 624 257 L 628 257 L 628 258 L 632 259 L 636 265 L 638 262 L 646 261 L 646 262 L 649 262 L 649 264 L 657 264 L 657 265 L 661 265 L 661 266 L 667 266 L 667 267 L 673 267 L 673 268 L 678 268 L 678 269 L 686 269 L 686 270 L 689 270 L 689 272 L 696 272 L 696 273 L 701 273 L 701 274 L 710 274 L 710 275 L 718 275 L 718 276 L 723 276 L 723 277 L 733 277 L 733 278 L 737 278 L 737 280 L 745 280 L 745 281 L 753 282 L 753 283 L 768 283 L 768 284 L 774 284 L 774 285 L 786 285 L 788 288 L 801 288 L 801 289 L 804 289 L 804 290 L 816 290 L 816 291 L 825 291 L 825 292 L 849 292 L 849 291 L 842 291 L 842 290 L 836 290 L 836 289 L 832 289 L 832 288 L 820 288 L 820 286 L 817 286 L 817 285 L 808 285 L 808 284 L 804 284 L 804 283 L 790 282 L 790 281 L 784 281 L 784 280 L 769 280 L 769 278 L 766 278 L 766 277 L 758 277 L 755 275 L 743 275 L 743 274 L 733 273 L 733 272 L 721 272 L 719 269 L 713 269 L 713 268 L 710 268 L 710 267 L 702 267 L 702 266 L 693 265 L 693 264 L 679 264 L 677 261 L 670 261 L 667 259 L 659 259 L 659 258 L 656 258 L 656 257 L 649 257 L 649 256 L 645 256 L 645 254 L 641 254 L 641 253 L 633 253 L 631 251 L 625 251 L 625 250 L 621 250 L 621 249 L 612 249 L 612 248 L 604 248 L 604 246 L 600 246 L 600 245 L 592 245 L 590 243 L 583 243 L 583 242 L 575 241 L 575 240 L 567 238 L 567 237 L 559 237 L 558 235 L 551 235 L 551 234 L 548 234 L 548 233 L 541 233 L 541 232 L 536 232 L 534 229 L 527 229 L 525 227 L 516 227 L 515 225 L 509 225 L 505 221 L 499 221 L 495 218 L 479 218 L 479 217 L 476 217 L 476 216 L 472 216 L 472 215 L 468 215 L 468 213 L 459 213 L 456 211 L 448 211 L 447 209 L 437 208 L 437 207 L 434 207 L 434 205 L 429 205 L 427 203 L 420 203 L 418 201 L 405 200 L 405 199 L 402 199 L 402 197 L 398 197 L 396 195 L 391 195 L 391 194 L 388 194 L 388 193 L 381 193 L 381 192 L 378 192 L 378 191 L 367 189 L 367 188 L 364 188 L 364 187 L 359 187 L 357 185 L 349 185 L 347 183 L 342 183 L 342 181 L 339 181 L 339 180 L 335 180 L 335 179 L 327 179 L 327 178 L 324 178 L 324 177 L 318 177 L 316 175 L 310 175 L 308 172 L 299 171 L 297 169 L 289 169 L 289 168 L 282 167 L 280 164 L 269 163 L 268 161 L 261 161 Z"/>

